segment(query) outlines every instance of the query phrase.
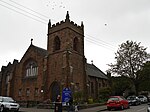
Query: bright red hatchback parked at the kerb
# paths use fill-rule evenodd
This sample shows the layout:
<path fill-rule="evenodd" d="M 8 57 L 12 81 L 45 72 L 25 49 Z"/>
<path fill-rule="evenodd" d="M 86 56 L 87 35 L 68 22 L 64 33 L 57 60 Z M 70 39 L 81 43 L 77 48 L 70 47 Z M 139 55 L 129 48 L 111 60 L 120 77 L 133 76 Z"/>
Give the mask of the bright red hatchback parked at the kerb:
<path fill-rule="evenodd" d="M 123 96 L 111 96 L 107 101 L 107 109 L 125 109 L 129 108 L 129 102 Z"/>

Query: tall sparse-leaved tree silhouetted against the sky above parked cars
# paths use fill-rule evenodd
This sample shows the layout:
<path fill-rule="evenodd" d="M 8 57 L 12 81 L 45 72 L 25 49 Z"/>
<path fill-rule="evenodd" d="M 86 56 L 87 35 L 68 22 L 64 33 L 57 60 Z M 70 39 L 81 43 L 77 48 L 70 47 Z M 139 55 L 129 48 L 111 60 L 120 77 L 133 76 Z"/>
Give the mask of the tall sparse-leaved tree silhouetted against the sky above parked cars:
<path fill-rule="evenodd" d="M 133 41 L 126 41 L 119 46 L 115 53 L 115 64 L 110 64 L 109 71 L 117 75 L 128 76 L 138 88 L 138 71 L 143 67 L 143 64 L 149 58 L 146 48 Z"/>

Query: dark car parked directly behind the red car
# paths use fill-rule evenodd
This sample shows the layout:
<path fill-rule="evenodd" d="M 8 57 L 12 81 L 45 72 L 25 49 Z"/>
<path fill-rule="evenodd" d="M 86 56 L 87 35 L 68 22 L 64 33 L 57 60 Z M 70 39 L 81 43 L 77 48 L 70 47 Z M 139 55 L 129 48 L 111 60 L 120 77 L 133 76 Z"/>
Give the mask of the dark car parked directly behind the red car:
<path fill-rule="evenodd" d="M 129 96 L 127 98 L 129 105 L 140 105 L 141 101 L 137 96 Z"/>

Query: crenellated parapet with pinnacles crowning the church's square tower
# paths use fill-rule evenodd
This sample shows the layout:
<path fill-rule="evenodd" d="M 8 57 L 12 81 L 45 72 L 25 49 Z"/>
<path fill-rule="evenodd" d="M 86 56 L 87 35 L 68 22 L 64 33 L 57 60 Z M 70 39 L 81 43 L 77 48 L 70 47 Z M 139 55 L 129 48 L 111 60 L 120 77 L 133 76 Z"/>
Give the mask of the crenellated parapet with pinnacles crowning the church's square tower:
<path fill-rule="evenodd" d="M 51 25 L 51 21 L 48 23 L 48 34 L 51 34 L 53 32 L 56 32 L 58 30 L 64 29 L 64 28 L 70 28 L 80 34 L 84 33 L 84 25 L 83 22 L 81 22 L 81 25 L 77 25 L 73 21 L 70 21 L 69 13 L 67 11 L 66 19 L 62 20 L 60 22 L 57 22 L 56 24 Z"/>

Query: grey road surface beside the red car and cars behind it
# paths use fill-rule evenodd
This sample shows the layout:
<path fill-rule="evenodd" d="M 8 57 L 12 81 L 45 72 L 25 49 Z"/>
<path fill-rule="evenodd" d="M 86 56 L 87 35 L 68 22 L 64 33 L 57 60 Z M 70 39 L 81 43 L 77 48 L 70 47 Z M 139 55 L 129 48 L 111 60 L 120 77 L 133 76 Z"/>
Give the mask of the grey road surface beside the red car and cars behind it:
<path fill-rule="evenodd" d="M 141 104 L 138 106 L 130 106 L 130 109 L 124 109 L 124 110 L 111 110 L 111 111 L 102 111 L 102 112 L 147 112 L 147 104 Z"/>

